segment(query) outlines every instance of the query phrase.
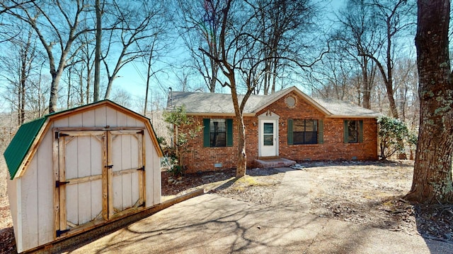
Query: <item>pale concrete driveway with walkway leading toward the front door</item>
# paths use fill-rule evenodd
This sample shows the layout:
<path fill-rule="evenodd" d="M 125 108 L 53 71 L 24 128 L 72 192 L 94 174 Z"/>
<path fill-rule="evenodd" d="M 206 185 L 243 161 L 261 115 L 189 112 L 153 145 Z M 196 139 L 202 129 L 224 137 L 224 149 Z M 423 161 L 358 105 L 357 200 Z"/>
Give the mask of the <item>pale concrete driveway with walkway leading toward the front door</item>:
<path fill-rule="evenodd" d="M 205 194 L 69 253 L 452 253 L 453 244 L 309 214 L 305 171 L 285 170 L 270 206 Z"/>

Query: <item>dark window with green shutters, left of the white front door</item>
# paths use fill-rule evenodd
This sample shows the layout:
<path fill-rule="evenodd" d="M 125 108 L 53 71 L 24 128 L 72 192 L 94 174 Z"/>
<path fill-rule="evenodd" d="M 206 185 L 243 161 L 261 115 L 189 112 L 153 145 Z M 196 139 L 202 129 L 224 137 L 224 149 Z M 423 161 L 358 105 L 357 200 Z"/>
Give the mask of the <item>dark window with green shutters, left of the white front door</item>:
<path fill-rule="evenodd" d="M 203 146 L 233 146 L 233 119 L 203 119 Z"/>

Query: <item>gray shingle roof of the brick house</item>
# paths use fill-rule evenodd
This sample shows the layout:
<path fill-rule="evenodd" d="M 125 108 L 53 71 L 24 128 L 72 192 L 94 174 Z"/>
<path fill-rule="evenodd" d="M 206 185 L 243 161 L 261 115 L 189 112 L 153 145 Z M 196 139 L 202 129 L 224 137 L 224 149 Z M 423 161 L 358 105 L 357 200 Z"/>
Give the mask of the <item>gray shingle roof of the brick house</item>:
<path fill-rule="evenodd" d="M 355 104 L 343 102 L 335 99 L 311 98 L 305 95 L 297 87 L 289 87 L 271 95 L 251 95 L 244 108 L 244 114 L 256 114 L 261 109 L 268 107 L 277 99 L 284 97 L 289 92 L 297 92 L 309 103 L 313 104 L 320 111 L 331 117 L 355 116 L 355 117 L 377 117 L 379 114 L 369 109 L 359 107 Z M 243 95 L 239 95 L 239 102 Z M 168 96 L 167 109 L 185 106 L 188 114 L 217 114 L 234 115 L 234 107 L 230 94 L 219 94 L 212 92 L 172 92 Z"/>

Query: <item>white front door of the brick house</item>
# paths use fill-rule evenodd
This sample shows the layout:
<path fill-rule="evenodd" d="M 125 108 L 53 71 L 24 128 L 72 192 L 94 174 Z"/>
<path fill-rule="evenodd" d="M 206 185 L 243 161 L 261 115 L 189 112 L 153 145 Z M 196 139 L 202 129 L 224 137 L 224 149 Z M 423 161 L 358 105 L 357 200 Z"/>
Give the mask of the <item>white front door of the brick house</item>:
<path fill-rule="evenodd" d="M 259 149 L 260 157 L 277 156 L 277 120 L 260 120 Z"/>

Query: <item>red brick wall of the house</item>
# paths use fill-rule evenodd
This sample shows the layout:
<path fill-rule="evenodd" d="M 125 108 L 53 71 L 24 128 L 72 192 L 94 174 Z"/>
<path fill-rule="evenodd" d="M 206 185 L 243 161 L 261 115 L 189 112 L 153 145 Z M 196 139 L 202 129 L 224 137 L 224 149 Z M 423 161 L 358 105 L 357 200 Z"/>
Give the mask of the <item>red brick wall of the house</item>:
<path fill-rule="evenodd" d="M 279 120 L 279 155 L 280 157 L 302 161 L 310 160 L 376 160 L 377 159 L 377 120 L 376 119 L 347 119 L 363 120 L 363 143 L 343 143 L 343 118 L 327 118 L 321 111 L 299 97 L 296 106 L 289 109 L 282 97 L 276 102 L 258 112 L 256 116 L 268 110 L 280 116 Z M 232 118 L 219 116 L 193 116 L 195 124 L 202 126 L 202 119 Z M 316 119 L 323 120 L 323 144 L 315 145 L 287 145 L 288 119 Z M 248 167 L 255 167 L 254 160 L 258 157 L 258 117 L 244 117 L 246 125 L 246 153 Z M 238 128 L 236 121 L 233 124 L 232 147 L 203 147 L 202 133 L 198 135 L 185 154 L 188 173 L 197 171 L 213 171 L 236 167 Z M 214 167 L 222 164 L 222 167 Z"/>

